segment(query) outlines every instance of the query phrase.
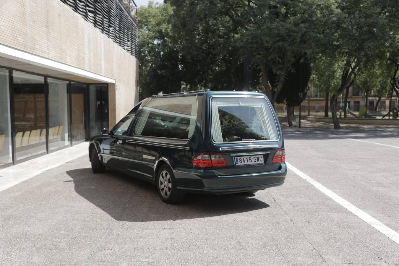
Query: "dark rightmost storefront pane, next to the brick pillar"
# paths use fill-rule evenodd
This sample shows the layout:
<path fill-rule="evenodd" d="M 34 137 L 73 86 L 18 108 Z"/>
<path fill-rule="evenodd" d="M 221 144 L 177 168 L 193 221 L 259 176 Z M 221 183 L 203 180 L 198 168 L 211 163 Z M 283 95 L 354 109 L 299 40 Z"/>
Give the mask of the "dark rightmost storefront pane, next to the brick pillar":
<path fill-rule="evenodd" d="M 90 84 L 90 136 L 100 134 L 101 129 L 108 128 L 108 86 Z"/>

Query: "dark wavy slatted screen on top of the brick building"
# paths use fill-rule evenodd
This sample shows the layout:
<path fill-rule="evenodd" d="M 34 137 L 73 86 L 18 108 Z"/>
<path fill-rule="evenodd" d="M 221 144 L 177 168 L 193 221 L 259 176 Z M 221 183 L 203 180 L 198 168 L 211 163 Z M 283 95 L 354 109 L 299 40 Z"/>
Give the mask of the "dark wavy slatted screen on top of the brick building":
<path fill-rule="evenodd" d="M 138 29 L 119 0 L 61 0 L 85 20 L 138 58 Z"/>

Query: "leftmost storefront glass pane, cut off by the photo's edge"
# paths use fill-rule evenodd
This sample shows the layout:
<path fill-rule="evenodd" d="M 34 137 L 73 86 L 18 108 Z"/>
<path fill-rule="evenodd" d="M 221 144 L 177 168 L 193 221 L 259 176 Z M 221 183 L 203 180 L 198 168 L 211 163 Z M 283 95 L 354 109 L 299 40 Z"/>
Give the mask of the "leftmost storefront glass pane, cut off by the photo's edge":
<path fill-rule="evenodd" d="M 12 162 L 8 70 L 0 68 L 0 168 Z"/>

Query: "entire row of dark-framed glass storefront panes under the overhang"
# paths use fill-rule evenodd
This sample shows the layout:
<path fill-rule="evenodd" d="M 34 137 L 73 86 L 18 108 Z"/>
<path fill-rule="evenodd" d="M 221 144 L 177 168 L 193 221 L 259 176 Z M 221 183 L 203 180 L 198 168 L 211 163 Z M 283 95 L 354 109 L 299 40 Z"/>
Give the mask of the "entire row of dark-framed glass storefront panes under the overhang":
<path fill-rule="evenodd" d="M 108 126 L 107 84 L 0 68 L 0 168 L 84 141 Z"/>

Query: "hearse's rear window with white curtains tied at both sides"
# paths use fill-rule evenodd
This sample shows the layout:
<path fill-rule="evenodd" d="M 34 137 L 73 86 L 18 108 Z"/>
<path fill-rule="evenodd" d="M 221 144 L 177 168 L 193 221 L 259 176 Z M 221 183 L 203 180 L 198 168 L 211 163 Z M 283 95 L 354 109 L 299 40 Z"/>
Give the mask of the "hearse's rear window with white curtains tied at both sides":
<path fill-rule="evenodd" d="M 263 97 L 212 97 L 211 127 L 214 142 L 279 139 L 273 112 Z"/>

